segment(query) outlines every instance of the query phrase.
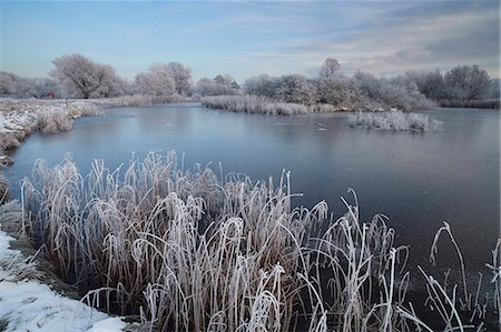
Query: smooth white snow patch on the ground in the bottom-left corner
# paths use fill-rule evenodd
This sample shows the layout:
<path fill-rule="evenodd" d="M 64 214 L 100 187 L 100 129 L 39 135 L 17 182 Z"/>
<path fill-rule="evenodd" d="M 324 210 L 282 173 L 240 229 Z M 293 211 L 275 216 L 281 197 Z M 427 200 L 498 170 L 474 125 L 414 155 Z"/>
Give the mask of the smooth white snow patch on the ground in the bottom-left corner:
<path fill-rule="evenodd" d="M 0 231 L 0 331 L 112 332 L 127 326 L 121 319 L 65 298 L 35 279 L 18 280 L 19 269 L 36 272 L 36 266 L 10 249 L 12 240 Z"/>

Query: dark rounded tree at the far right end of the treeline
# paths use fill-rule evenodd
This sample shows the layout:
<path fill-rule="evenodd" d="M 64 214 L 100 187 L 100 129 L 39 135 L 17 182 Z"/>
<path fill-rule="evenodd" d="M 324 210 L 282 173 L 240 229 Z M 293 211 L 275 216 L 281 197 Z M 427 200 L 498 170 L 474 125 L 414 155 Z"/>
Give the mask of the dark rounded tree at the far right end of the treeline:
<path fill-rule="evenodd" d="M 458 66 L 444 76 L 449 99 L 469 101 L 482 99 L 490 88 L 490 78 L 479 66 Z"/>

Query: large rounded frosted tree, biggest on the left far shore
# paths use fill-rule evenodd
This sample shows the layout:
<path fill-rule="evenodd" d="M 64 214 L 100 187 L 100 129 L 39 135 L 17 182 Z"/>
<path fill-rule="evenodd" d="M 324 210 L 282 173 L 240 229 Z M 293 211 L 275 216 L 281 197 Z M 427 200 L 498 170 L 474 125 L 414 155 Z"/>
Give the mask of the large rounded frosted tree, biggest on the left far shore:
<path fill-rule="evenodd" d="M 96 63 L 81 54 L 62 56 L 52 63 L 56 68 L 50 76 L 59 80 L 68 97 L 88 99 L 124 93 L 117 89 L 125 81 L 111 66 Z"/>

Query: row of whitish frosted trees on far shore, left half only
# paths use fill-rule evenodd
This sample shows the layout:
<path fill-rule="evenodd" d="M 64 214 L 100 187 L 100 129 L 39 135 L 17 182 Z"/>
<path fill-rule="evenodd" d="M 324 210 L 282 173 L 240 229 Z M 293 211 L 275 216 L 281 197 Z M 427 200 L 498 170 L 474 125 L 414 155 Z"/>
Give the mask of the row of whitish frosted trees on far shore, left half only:
<path fill-rule="evenodd" d="M 155 97 L 237 94 L 239 85 L 229 74 L 203 78 L 196 84 L 191 70 L 179 63 L 154 63 L 129 82 L 109 64 L 81 54 L 67 54 L 52 61 L 48 78 L 28 79 L 0 72 L 0 94 L 19 98 L 45 98 L 50 91 L 57 98 L 110 98 L 128 94 Z"/>

